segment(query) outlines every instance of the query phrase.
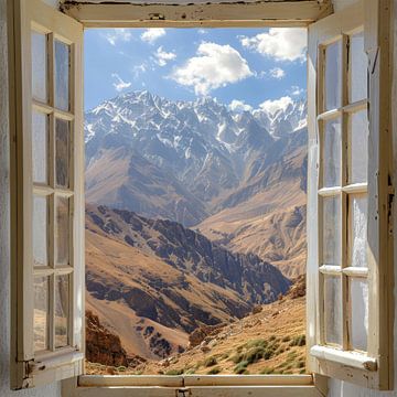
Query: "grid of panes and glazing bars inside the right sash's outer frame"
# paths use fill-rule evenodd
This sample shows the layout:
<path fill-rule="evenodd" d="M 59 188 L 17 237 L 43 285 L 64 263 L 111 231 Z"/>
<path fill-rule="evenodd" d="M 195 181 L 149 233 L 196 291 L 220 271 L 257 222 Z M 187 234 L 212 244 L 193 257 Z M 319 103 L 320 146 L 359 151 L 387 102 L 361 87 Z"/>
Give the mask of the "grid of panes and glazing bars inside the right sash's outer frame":
<path fill-rule="evenodd" d="M 356 39 L 355 43 L 361 41 Z M 362 95 L 366 90 L 358 84 L 363 69 L 358 71 L 360 78 L 354 78 L 355 72 L 348 66 L 353 58 L 351 44 L 351 37 L 344 34 L 322 45 L 319 56 L 319 298 L 323 308 L 320 343 L 365 353 L 365 336 L 357 332 L 356 323 L 368 310 L 368 269 L 363 253 L 367 222 L 363 204 L 367 196 L 367 99 Z M 355 46 L 355 53 L 358 50 Z M 330 202 L 334 202 L 331 207 Z M 330 247 L 334 257 L 328 254 Z"/>

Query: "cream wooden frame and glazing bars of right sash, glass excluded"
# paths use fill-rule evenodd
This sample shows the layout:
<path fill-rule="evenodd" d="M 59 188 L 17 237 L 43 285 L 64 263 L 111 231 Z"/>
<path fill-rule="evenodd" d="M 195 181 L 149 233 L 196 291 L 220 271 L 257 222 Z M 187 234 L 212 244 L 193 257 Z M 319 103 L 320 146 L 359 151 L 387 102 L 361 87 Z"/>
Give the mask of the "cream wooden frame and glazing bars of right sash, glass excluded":
<path fill-rule="evenodd" d="M 308 331 L 307 340 L 310 350 L 309 367 L 315 373 L 347 380 L 375 389 L 391 388 L 393 367 L 393 234 L 389 233 L 390 212 L 390 65 L 389 65 L 389 18 L 388 0 L 360 1 L 343 12 L 339 12 L 309 26 L 308 58 L 308 101 L 309 101 L 309 185 L 308 185 Z M 379 23 L 382 21 L 382 23 Z M 360 101 L 352 105 L 354 110 L 368 108 L 368 184 L 346 185 L 340 193 L 368 194 L 368 270 L 346 267 L 346 228 L 342 221 L 342 269 L 333 266 L 320 267 L 320 196 L 333 195 L 334 189 L 321 189 L 321 149 L 319 143 L 322 120 L 352 111 L 347 105 L 346 92 L 342 92 L 342 108 L 323 112 L 321 73 L 322 46 L 335 39 L 345 41 L 345 35 L 364 25 L 365 50 L 368 54 L 368 105 Z M 344 52 L 344 51 L 343 51 Z M 343 55 L 345 56 L 345 55 Z M 382 72 L 380 72 L 382 71 Z M 344 71 L 344 78 L 347 78 Z M 380 105 L 382 104 L 382 105 Z M 343 142 L 343 139 L 342 139 Z M 342 172 L 342 181 L 345 175 Z M 343 192 L 347 189 L 347 192 Z M 343 200 L 343 197 L 342 197 Z M 342 218 L 346 216 L 343 214 Z M 344 232 L 343 232 L 344 230 Z M 368 352 L 357 354 L 348 351 L 347 345 L 347 304 L 343 313 L 343 347 L 341 351 L 324 346 L 323 337 L 323 290 L 322 275 L 341 275 L 365 277 L 369 290 L 369 330 Z M 342 282 L 343 297 L 346 298 L 346 282 Z M 346 302 L 344 302 L 346 303 Z"/>

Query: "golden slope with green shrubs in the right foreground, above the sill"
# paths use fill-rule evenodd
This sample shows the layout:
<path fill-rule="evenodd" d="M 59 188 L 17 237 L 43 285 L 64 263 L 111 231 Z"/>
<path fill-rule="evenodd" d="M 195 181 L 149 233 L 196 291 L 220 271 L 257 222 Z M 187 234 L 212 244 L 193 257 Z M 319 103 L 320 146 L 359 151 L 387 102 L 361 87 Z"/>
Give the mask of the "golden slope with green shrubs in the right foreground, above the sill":
<path fill-rule="evenodd" d="M 90 374 L 302 374 L 305 371 L 304 278 L 282 299 L 254 313 L 190 335 L 190 347 L 162 361 L 126 365 L 87 363 Z"/>

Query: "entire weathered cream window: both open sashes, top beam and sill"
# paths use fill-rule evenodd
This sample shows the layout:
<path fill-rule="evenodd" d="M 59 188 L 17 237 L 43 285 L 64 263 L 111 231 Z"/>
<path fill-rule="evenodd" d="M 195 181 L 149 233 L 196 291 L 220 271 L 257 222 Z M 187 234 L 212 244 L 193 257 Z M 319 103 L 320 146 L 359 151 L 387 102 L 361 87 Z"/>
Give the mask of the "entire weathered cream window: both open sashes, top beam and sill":
<path fill-rule="evenodd" d="M 205 4 L 198 12 L 66 1 L 66 15 L 41 0 L 9 1 L 14 388 L 67 378 L 65 396 L 124 396 L 126 387 L 142 396 L 153 387 L 170 396 L 208 387 L 230 396 L 319 396 L 326 393 L 321 375 L 390 387 L 388 3 L 358 1 L 325 17 L 328 2 Z M 84 25 L 309 25 L 307 341 L 308 366 L 319 376 L 78 377 Z"/>

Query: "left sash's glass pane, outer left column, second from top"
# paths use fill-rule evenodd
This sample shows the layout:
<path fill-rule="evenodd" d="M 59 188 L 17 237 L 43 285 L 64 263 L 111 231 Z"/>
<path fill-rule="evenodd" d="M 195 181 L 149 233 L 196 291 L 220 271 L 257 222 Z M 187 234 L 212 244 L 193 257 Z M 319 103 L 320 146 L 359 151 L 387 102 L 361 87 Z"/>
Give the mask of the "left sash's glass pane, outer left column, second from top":
<path fill-rule="evenodd" d="M 47 183 L 47 116 L 32 112 L 32 163 L 33 182 Z"/>

